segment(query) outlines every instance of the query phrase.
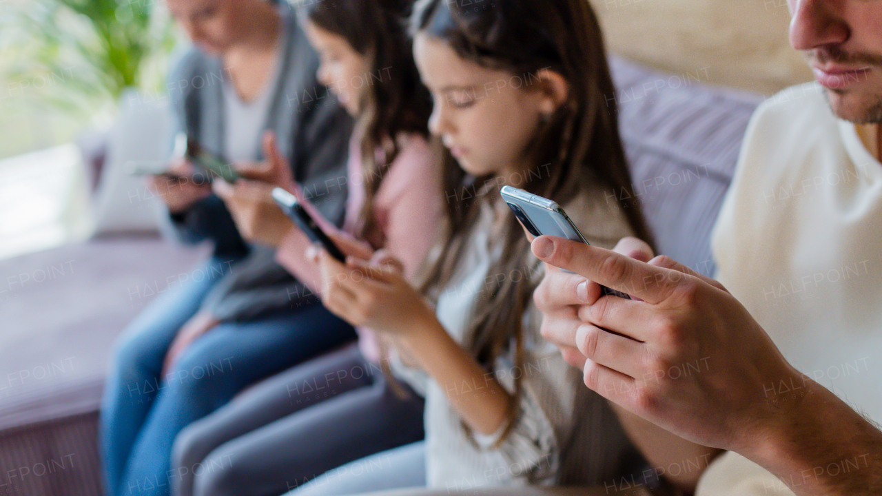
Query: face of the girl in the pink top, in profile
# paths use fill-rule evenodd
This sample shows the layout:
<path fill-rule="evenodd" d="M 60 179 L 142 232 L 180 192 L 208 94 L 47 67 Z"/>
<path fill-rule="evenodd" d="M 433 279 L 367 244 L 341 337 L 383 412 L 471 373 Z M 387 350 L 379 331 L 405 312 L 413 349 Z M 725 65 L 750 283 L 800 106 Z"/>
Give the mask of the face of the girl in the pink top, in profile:
<path fill-rule="evenodd" d="M 307 20 L 303 32 L 318 52 L 318 82 L 331 90 L 351 116 L 357 116 L 360 88 L 370 82 L 369 61 L 352 48 L 346 38 Z"/>

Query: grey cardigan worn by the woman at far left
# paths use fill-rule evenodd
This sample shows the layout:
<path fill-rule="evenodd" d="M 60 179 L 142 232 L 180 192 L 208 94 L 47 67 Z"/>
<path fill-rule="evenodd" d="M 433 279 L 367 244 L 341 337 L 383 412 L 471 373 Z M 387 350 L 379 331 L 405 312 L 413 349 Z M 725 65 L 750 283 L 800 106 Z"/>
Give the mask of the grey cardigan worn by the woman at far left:
<path fill-rule="evenodd" d="M 325 86 L 316 80 L 318 56 L 310 47 L 295 12 L 279 6 L 283 24 L 280 68 L 265 129 L 278 137 L 295 180 L 330 222 L 343 221 L 346 205 L 346 161 L 352 119 Z M 190 49 L 176 64 L 168 89 L 176 117 L 176 132 L 198 137 L 203 147 L 223 150 L 222 79 L 228 77 L 221 60 Z M 203 302 L 203 310 L 221 320 L 258 319 L 305 303 L 309 295 L 301 282 L 280 267 L 274 250 L 249 244 L 216 196 L 199 201 L 183 214 L 170 216 L 176 236 L 184 243 L 210 240 L 214 256 L 232 261 Z M 293 295 L 293 296 L 292 296 Z"/>

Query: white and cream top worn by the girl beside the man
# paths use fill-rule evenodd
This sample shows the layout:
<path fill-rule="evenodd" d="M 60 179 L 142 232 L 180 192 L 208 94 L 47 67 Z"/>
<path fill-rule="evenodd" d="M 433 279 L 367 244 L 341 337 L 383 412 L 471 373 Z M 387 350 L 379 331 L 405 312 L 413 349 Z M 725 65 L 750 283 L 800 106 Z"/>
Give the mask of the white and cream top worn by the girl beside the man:
<path fill-rule="evenodd" d="M 609 248 L 619 238 L 630 236 L 616 205 L 604 201 L 602 193 L 592 197 L 597 199 L 593 205 L 579 202 L 566 207 L 588 240 Z M 453 282 L 440 290 L 437 300 L 437 318 L 460 343 L 466 339 L 476 302 L 497 283 L 497 274 L 489 274 L 491 263 L 501 254 L 501 246 L 490 237 L 492 223 L 493 214 L 485 204 L 468 240 L 469 250 L 460 260 Z M 524 259 L 521 273 L 505 277 L 541 279 L 539 261 L 528 252 Z M 557 347 L 542 339 L 538 316 L 531 304 L 524 316 L 527 364 L 515 367 L 513 357 L 504 354 L 494 367 L 497 380 L 510 392 L 512 378 L 523 377 L 524 385 L 519 421 L 499 447 L 491 447 L 498 438 L 492 435 L 475 435 L 477 442 L 473 443 L 447 398 L 448 393 L 485 387 L 483 383 L 443 387 L 422 372 L 406 370 L 393 361 L 395 372 L 425 394 L 430 487 L 469 490 L 490 485 L 596 485 L 622 476 L 618 470 L 623 469 L 624 455 L 634 448 L 608 402 L 588 390 L 581 373 L 564 362 Z"/>

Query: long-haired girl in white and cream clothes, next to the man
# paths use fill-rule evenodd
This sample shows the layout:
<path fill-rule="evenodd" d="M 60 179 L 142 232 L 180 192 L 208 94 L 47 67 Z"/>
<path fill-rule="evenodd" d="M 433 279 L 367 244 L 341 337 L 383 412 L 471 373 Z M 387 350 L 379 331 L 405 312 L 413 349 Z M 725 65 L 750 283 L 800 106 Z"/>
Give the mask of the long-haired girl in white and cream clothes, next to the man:
<path fill-rule="evenodd" d="M 424 477 L 392 484 L 448 490 L 614 480 L 632 447 L 609 404 L 539 336 L 531 296 L 541 268 L 498 195 L 512 184 L 557 200 L 593 244 L 650 239 L 639 207 L 621 199 L 631 195 L 609 194 L 632 185 L 604 98 L 614 88 L 600 28 L 584 0 L 420 5 L 414 54 L 435 101 L 430 131 L 461 167 L 445 184 L 450 225 L 427 292 L 376 263 L 318 252 L 325 306 L 389 336 L 396 371 L 425 390 L 424 447 L 361 465 L 399 475 L 423 462 Z M 358 474 L 340 470 L 292 494 L 360 492 Z"/>

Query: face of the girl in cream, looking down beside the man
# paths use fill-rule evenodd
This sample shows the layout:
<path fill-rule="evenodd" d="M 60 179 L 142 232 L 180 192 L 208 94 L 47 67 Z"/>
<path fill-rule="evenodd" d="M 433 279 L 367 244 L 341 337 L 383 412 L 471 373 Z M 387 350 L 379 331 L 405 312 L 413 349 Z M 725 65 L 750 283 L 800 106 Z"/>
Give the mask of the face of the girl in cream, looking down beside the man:
<path fill-rule="evenodd" d="M 482 67 L 423 33 L 415 36 L 414 58 L 435 101 L 430 132 L 441 137 L 460 167 L 505 179 L 538 165 L 527 163 L 524 152 L 555 106 L 538 90 L 535 76 Z"/>

